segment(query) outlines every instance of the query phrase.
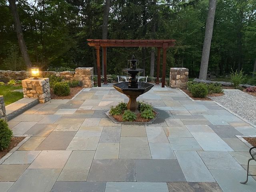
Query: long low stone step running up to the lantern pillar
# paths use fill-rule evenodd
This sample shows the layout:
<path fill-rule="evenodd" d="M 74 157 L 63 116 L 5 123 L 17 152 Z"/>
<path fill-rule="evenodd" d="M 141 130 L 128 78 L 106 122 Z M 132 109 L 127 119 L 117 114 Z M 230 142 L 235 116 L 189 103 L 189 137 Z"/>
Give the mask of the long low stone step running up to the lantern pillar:
<path fill-rule="evenodd" d="M 12 104 L 7 105 L 6 108 L 6 116 L 7 120 L 11 120 L 12 118 L 18 116 L 24 111 L 28 110 L 32 106 L 35 106 L 39 103 L 38 98 L 22 98 Z"/>

